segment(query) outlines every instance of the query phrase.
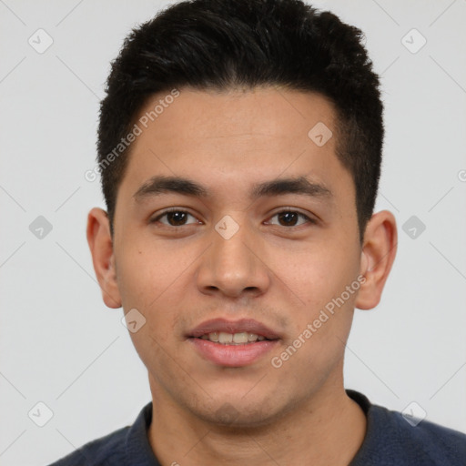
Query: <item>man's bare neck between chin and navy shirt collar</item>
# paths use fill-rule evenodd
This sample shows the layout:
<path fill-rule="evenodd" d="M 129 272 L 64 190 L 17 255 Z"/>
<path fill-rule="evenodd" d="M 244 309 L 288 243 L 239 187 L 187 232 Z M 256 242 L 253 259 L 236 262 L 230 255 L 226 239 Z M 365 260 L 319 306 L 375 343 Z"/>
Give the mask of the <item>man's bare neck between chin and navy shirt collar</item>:
<path fill-rule="evenodd" d="M 366 433 L 366 417 L 340 384 L 327 380 L 304 405 L 279 420 L 256 427 L 225 427 L 200 420 L 161 390 L 151 389 L 153 421 L 148 438 L 163 466 L 348 465 Z M 338 387 L 338 388 L 337 388 Z M 325 389 L 325 390 L 324 390 Z"/>

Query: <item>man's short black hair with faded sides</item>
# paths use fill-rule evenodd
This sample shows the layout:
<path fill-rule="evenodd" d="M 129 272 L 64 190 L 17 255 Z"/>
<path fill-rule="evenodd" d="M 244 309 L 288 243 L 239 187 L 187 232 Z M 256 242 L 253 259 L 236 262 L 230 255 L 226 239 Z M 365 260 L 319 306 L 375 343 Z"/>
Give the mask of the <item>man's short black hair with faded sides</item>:
<path fill-rule="evenodd" d="M 129 147 L 117 157 L 115 149 L 150 96 L 184 86 L 279 85 L 334 104 L 337 156 L 354 180 L 362 238 L 377 197 L 384 135 L 379 76 L 362 38 L 360 29 L 300 0 L 183 1 L 133 29 L 100 106 L 97 161 L 112 233 L 129 155 Z"/>

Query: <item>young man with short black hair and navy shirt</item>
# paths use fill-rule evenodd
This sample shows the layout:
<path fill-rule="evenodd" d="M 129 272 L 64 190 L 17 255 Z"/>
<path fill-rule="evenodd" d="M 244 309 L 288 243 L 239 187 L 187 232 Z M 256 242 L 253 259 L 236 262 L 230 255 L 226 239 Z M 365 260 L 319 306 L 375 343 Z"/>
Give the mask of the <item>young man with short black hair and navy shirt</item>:
<path fill-rule="evenodd" d="M 56 465 L 466 464 L 466 435 L 343 385 L 397 244 L 360 39 L 299 0 L 182 2 L 127 38 L 87 239 L 152 402 Z"/>

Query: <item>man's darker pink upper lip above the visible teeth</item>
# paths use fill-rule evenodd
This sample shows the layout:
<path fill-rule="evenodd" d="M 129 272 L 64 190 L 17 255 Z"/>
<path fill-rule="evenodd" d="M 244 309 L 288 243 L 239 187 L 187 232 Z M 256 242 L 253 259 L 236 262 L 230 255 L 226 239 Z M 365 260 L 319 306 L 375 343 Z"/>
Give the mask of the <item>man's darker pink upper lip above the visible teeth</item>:
<path fill-rule="evenodd" d="M 208 333 L 213 332 L 226 332 L 226 333 L 255 333 L 266 339 L 279 339 L 277 332 L 269 329 L 266 325 L 254 319 L 210 319 L 202 322 L 195 329 L 192 329 L 188 337 L 202 337 Z"/>

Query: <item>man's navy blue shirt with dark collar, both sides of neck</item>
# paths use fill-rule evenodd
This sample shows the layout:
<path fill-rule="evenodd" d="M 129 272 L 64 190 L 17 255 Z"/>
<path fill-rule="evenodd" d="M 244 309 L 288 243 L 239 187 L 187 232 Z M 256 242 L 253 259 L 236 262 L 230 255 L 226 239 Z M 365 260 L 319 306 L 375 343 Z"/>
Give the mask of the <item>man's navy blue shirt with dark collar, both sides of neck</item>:
<path fill-rule="evenodd" d="M 368 420 L 364 441 L 349 466 L 466 466 L 465 434 L 427 420 L 413 427 L 400 412 L 373 405 L 358 391 L 346 392 Z M 86 443 L 50 466 L 160 466 L 147 439 L 151 420 L 152 402 L 132 426 Z M 177 454 L 173 462 L 182 465 Z"/>

